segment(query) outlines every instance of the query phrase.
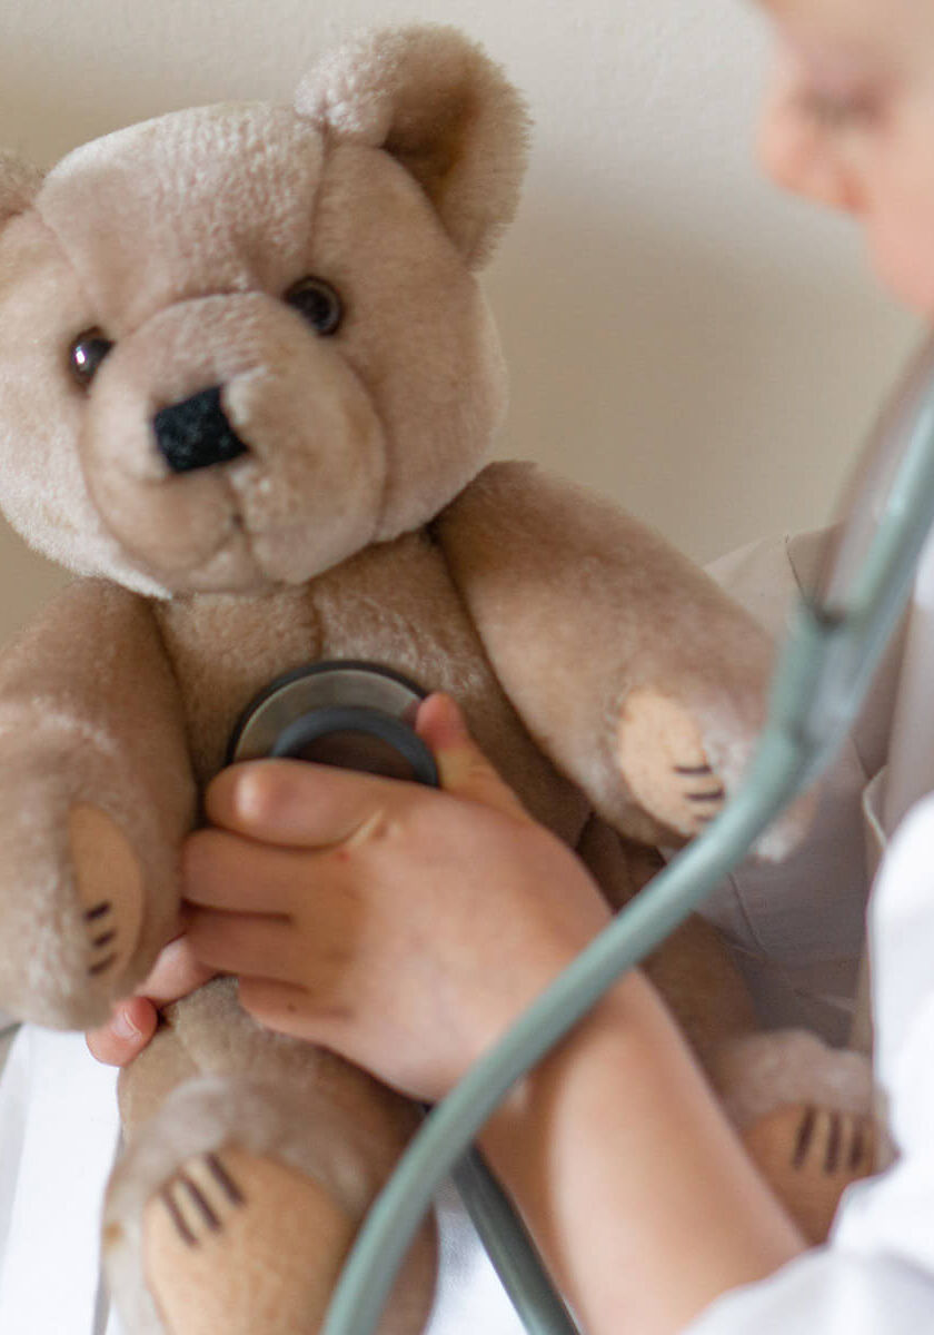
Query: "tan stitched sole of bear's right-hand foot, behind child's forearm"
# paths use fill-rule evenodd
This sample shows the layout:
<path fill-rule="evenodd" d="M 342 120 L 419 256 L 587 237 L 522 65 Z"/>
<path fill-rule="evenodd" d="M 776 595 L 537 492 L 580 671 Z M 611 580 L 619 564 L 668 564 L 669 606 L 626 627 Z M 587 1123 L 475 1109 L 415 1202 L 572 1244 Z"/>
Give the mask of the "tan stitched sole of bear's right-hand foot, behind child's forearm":
<path fill-rule="evenodd" d="M 843 1191 L 877 1171 L 874 1117 L 814 1103 L 777 1108 L 745 1131 L 743 1143 L 811 1243 L 826 1239 Z"/>

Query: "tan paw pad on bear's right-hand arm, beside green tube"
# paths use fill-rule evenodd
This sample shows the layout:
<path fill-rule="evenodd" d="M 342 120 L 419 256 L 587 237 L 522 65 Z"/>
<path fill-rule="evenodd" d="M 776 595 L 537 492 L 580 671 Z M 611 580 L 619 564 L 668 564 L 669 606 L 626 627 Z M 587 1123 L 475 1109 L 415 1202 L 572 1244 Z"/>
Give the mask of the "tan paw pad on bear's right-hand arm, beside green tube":
<path fill-rule="evenodd" d="M 616 734 L 619 766 L 635 800 L 684 837 L 699 834 L 726 801 L 691 713 L 651 688 L 631 692 Z"/>

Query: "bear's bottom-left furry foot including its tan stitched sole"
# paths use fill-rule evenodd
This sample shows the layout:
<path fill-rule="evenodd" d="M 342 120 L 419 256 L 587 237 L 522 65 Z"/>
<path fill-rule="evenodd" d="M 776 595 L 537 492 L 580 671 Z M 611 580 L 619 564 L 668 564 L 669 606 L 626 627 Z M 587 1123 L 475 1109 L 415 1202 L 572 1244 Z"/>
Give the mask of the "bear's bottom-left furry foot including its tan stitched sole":
<path fill-rule="evenodd" d="M 359 1077 L 359 1073 L 352 1073 Z M 340 1073 L 331 1072 L 331 1095 Z M 131 1143 L 108 1191 L 104 1258 L 129 1335 L 315 1335 L 359 1224 L 402 1149 L 315 1116 L 308 1089 L 187 1081 Z M 322 1101 L 319 1111 L 324 1108 Z M 384 1133 L 383 1133 L 384 1132 Z M 418 1335 L 434 1238 L 416 1240 L 380 1335 Z"/>

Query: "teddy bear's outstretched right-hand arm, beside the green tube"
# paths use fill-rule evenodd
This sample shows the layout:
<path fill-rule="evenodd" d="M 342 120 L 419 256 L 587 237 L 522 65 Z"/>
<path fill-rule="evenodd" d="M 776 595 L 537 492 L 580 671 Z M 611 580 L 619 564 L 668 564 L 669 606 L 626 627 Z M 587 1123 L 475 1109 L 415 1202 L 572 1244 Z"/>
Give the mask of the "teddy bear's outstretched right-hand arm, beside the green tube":
<path fill-rule="evenodd" d="M 703 828 L 763 721 L 757 623 L 656 534 L 532 465 L 490 466 L 434 531 L 512 702 L 596 809 L 651 842 Z"/>

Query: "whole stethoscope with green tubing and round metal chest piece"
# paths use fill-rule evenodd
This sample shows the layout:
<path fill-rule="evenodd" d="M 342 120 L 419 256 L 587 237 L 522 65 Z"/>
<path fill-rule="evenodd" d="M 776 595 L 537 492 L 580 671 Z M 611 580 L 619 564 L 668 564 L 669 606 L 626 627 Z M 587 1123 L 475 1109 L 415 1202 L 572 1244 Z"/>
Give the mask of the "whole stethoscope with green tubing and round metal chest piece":
<path fill-rule="evenodd" d="M 406 1251 L 448 1176 L 530 1335 L 576 1332 L 524 1227 L 471 1145 L 512 1084 L 679 926 L 830 762 L 901 619 L 933 523 L 929 339 L 870 438 L 850 487 L 846 522 L 794 613 L 769 718 L 742 788 L 431 1109 L 358 1235 L 323 1335 L 371 1335 L 376 1328 Z M 254 702 L 231 758 L 299 756 L 358 769 L 388 762 L 395 777 L 436 784 L 431 754 L 411 729 L 420 698 L 414 682 L 378 665 L 315 665 L 275 682 Z"/>

